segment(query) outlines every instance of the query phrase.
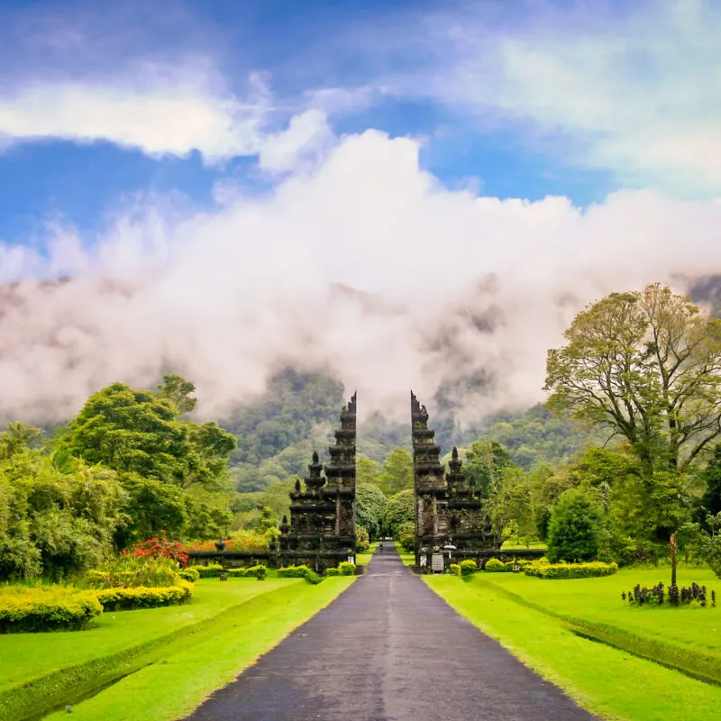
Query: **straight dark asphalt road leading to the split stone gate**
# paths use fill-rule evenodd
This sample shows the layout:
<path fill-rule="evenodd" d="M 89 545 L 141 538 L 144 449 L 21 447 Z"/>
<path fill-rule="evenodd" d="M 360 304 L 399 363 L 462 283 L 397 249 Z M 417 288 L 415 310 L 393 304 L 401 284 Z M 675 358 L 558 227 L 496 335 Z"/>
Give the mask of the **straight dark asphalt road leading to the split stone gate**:
<path fill-rule="evenodd" d="M 533 629 L 529 629 L 533 633 Z M 589 721 L 401 563 L 366 575 L 190 721 Z"/>

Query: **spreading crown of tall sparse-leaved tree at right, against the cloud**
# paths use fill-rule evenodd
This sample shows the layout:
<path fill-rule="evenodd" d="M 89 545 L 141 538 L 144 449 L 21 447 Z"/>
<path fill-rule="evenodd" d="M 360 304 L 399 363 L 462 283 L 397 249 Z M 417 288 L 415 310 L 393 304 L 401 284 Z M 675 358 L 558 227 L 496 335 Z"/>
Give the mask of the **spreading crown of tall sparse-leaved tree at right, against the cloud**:
<path fill-rule="evenodd" d="M 721 321 L 659 284 L 588 306 L 548 352 L 550 405 L 623 436 L 651 476 L 721 435 Z"/>

